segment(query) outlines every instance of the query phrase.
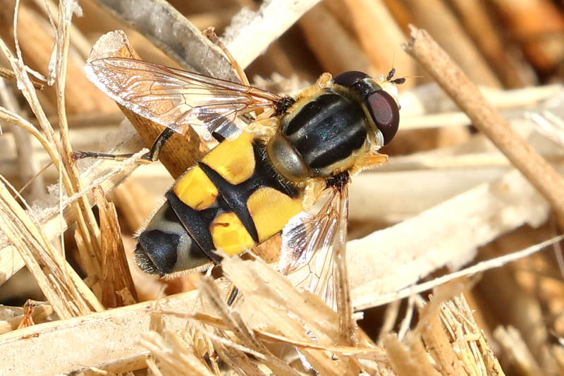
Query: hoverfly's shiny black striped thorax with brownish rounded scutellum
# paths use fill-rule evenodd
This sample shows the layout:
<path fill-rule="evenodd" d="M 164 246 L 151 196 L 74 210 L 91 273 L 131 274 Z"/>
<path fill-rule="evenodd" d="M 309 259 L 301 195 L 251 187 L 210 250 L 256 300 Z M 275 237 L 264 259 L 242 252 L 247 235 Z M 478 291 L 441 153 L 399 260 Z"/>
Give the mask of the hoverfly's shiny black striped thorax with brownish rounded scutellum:
<path fill-rule="evenodd" d="M 354 164 L 367 143 L 362 106 L 336 92 L 305 97 L 281 119 L 267 151 L 278 172 L 290 181 L 331 176 Z"/>

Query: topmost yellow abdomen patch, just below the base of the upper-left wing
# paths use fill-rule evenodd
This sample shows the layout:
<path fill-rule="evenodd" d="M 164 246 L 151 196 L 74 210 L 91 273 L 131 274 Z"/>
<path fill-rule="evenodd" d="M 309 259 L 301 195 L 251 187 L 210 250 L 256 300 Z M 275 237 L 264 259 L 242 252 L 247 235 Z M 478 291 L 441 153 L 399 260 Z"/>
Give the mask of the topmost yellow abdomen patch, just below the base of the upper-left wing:
<path fill-rule="evenodd" d="M 253 135 L 243 132 L 235 140 L 223 141 L 202 158 L 231 184 L 243 183 L 255 171 L 255 152 L 252 150 Z"/>

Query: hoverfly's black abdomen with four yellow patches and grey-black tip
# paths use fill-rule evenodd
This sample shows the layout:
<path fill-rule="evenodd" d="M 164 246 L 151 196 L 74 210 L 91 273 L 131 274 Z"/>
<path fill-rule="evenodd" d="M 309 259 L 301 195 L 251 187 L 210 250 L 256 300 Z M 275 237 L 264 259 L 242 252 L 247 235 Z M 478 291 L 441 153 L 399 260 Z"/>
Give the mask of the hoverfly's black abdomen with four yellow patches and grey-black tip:
<path fill-rule="evenodd" d="M 181 176 L 138 236 L 148 273 L 202 269 L 277 234 L 302 210 L 302 192 L 279 176 L 263 143 L 243 132 L 221 142 Z"/>

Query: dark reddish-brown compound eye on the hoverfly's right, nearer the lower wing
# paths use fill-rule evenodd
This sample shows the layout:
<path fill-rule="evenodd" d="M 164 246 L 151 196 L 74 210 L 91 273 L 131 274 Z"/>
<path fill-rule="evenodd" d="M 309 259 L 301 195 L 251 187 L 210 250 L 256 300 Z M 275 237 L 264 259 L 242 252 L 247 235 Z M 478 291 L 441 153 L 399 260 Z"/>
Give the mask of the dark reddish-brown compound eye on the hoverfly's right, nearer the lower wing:
<path fill-rule="evenodd" d="M 400 109 L 388 92 L 377 90 L 367 99 L 367 107 L 372 120 L 384 135 L 384 145 L 388 145 L 398 131 L 400 123 Z"/>

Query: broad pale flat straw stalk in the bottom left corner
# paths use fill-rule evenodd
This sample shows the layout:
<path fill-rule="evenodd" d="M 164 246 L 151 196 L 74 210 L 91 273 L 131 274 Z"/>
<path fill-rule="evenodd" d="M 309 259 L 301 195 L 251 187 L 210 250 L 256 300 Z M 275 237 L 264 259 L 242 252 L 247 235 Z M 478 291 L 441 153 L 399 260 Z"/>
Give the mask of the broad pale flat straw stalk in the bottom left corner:
<path fill-rule="evenodd" d="M 159 308 L 191 313 L 196 303 L 197 292 L 192 291 L 161 300 Z M 6 367 L 0 368 L 0 375 L 23 375 L 30 369 L 58 375 L 90 367 L 109 372 L 144 368 L 147 351 L 137 345 L 137 339 L 152 329 L 154 304 L 137 303 L 3 334 L 0 360 Z M 164 316 L 162 320 L 175 332 L 186 325 L 184 318 Z M 20 356 L 25 351 L 34 356 Z"/>

